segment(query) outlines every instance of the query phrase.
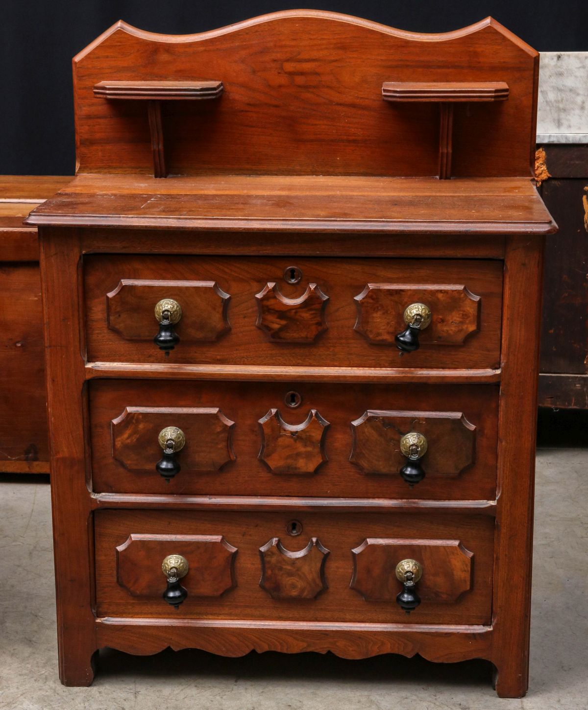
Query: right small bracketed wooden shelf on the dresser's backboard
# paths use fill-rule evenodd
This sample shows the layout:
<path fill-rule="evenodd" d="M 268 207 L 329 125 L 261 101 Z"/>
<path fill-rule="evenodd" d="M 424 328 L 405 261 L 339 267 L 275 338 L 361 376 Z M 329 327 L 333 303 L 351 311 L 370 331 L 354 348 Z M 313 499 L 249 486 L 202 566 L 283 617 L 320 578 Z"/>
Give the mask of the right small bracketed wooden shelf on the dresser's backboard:
<path fill-rule="evenodd" d="M 505 82 L 384 82 L 384 101 L 440 104 L 439 179 L 451 178 L 453 104 L 508 99 Z"/>

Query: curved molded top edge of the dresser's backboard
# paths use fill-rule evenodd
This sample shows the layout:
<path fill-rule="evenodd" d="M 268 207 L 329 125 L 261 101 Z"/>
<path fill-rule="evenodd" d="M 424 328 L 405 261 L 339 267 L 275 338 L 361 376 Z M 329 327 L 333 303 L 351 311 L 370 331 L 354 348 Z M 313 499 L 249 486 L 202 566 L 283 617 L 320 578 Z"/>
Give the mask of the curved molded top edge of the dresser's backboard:
<path fill-rule="evenodd" d="M 514 44 L 518 45 L 521 50 L 525 51 L 533 57 L 538 57 L 538 52 L 531 48 L 526 42 L 523 42 L 521 38 L 513 34 L 511 31 L 506 29 L 501 23 L 494 20 L 494 18 L 486 17 L 479 22 L 472 25 L 459 28 L 457 30 L 452 30 L 450 32 L 441 33 L 419 33 L 410 32 L 408 30 L 400 30 L 398 28 L 389 27 L 378 22 L 371 20 L 365 20 L 363 18 L 355 17 L 352 15 L 345 15 L 338 12 L 330 12 L 325 10 L 283 10 L 279 12 L 272 12 L 266 15 L 259 15 L 257 17 L 243 20 L 241 22 L 234 23 L 232 25 L 227 25 L 214 30 L 208 30 L 200 33 L 193 33 L 187 35 L 165 35 L 156 32 L 149 32 L 146 30 L 141 30 L 136 28 L 123 20 L 115 22 L 114 25 L 109 27 L 104 31 L 99 37 L 97 37 L 92 43 L 87 45 L 81 52 L 77 53 L 73 58 L 73 62 L 79 62 L 87 54 L 89 54 L 97 45 L 101 44 L 109 35 L 114 34 L 116 31 L 124 31 L 129 35 L 134 35 L 135 37 L 142 38 L 151 42 L 167 42 L 167 43 L 190 43 L 206 40 L 218 35 L 228 34 L 232 32 L 241 31 L 247 27 L 274 22 L 278 20 L 288 19 L 288 18 L 322 18 L 324 20 L 330 20 L 334 22 L 349 23 L 355 26 L 364 27 L 366 29 L 385 33 L 388 35 L 395 35 L 396 37 L 402 37 L 406 40 L 413 40 L 418 42 L 442 42 L 446 40 L 452 40 L 455 38 L 463 37 L 465 35 L 478 32 L 488 26 L 494 28 L 496 31 L 504 35 L 508 40 L 511 40 Z"/>

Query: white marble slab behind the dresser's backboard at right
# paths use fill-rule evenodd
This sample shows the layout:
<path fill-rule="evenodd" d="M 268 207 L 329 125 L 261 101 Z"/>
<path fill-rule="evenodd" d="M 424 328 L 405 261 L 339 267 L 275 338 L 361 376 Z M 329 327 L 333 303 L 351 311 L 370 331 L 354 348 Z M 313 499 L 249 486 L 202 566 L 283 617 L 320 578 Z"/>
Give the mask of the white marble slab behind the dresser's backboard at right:
<path fill-rule="evenodd" d="M 588 143 L 588 52 L 543 52 L 538 143 Z"/>

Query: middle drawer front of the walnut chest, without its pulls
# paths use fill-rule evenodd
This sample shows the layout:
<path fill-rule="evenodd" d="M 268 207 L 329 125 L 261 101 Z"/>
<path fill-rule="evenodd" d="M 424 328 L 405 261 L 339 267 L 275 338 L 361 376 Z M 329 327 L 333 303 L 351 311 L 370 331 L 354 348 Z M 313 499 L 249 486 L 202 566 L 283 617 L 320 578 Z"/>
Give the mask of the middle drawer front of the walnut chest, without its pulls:
<path fill-rule="evenodd" d="M 291 408 L 288 403 L 300 404 Z M 93 381 L 92 487 L 99 493 L 496 497 L 496 385 Z M 165 427 L 180 472 L 156 464 Z M 401 476 L 403 436 L 423 435 L 425 478 Z"/>

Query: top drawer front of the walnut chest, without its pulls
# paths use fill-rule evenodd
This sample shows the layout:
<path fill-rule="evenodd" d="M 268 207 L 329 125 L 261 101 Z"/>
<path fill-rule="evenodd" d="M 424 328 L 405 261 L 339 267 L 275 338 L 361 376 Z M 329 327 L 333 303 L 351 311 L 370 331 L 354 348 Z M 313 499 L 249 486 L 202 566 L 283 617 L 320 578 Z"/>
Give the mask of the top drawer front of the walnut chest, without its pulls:
<path fill-rule="evenodd" d="M 165 352 L 155 311 L 170 299 L 179 342 Z M 497 368 L 501 302 L 500 261 L 85 258 L 90 361 Z M 395 337 L 415 303 L 430 323 L 411 329 L 420 347 L 401 357 Z"/>

